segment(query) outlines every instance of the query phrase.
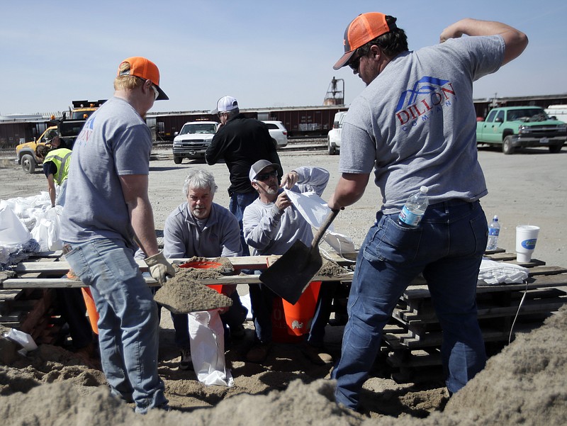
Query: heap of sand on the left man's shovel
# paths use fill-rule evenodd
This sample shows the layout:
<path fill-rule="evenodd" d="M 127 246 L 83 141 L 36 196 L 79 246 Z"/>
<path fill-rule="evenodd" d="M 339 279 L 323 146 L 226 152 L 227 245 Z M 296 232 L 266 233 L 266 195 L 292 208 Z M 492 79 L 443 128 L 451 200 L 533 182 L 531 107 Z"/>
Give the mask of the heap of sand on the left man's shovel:
<path fill-rule="evenodd" d="M 207 272 L 207 278 L 215 277 L 211 276 L 215 274 L 214 271 L 208 270 Z M 168 279 L 166 284 L 155 293 L 154 300 L 172 313 L 191 313 L 232 306 L 231 298 L 198 283 L 196 274 L 202 275 L 203 271 L 191 268 L 177 269 L 175 276 Z M 216 274 L 222 276 L 218 272 Z"/>

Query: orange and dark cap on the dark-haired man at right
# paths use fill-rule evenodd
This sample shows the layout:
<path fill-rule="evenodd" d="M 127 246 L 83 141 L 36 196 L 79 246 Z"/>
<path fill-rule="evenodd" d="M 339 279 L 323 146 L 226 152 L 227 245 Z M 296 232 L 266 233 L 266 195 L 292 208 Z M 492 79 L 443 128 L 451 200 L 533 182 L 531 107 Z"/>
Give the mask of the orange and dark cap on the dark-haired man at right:
<path fill-rule="evenodd" d="M 393 28 L 395 24 L 388 26 L 386 15 L 383 13 L 361 13 L 344 30 L 344 55 L 332 69 L 339 69 L 347 65 L 355 50 L 370 40 L 374 40 L 378 35 L 389 33 Z"/>

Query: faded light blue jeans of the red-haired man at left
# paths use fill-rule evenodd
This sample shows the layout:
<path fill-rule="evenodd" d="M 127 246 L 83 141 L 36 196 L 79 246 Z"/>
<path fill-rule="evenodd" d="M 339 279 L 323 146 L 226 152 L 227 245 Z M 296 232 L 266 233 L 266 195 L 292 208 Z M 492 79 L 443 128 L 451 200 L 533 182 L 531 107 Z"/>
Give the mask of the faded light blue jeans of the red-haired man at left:
<path fill-rule="evenodd" d="M 133 250 L 99 238 L 73 244 L 65 259 L 91 287 L 99 311 L 101 364 L 111 393 L 135 402 L 137 413 L 167 404 L 157 375 L 157 306 Z"/>

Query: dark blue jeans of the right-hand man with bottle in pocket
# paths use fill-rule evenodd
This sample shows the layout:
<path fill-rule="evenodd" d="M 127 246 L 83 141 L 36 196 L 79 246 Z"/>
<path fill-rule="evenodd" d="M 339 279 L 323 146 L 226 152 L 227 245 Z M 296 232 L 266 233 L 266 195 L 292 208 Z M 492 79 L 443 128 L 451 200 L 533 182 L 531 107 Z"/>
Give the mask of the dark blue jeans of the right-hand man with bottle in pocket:
<path fill-rule="evenodd" d="M 357 258 L 344 327 L 341 359 L 332 372 L 337 403 L 356 409 L 380 349 L 383 327 L 405 288 L 420 273 L 427 280 L 443 330 L 441 347 L 450 393 L 485 366 L 476 310 L 478 269 L 488 239 L 481 204 L 447 201 L 429 206 L 417 228 L 378 212 Z"/>

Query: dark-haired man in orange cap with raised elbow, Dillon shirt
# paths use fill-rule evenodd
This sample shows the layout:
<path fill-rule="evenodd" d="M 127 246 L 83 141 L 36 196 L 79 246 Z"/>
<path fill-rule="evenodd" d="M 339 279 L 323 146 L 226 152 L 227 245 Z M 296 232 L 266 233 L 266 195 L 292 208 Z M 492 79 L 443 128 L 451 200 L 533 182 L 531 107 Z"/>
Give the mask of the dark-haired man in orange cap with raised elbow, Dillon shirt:
<path fill-rule="evenodd" d="M 524 33 L 503 23 L 463 19 L 443 30 L 441 44 L 412 52 L 395 22 L 377 12 L 357 16 L 333 67 L 348 65 L 366 89 L 343 121 L 342 176 L 329 207 L 359 200 L 373 171 L 383 196 L 359 250 L 341 359 L 332 373 L 337 402 L 353 409 L 359 408 L 383 327 L 419 274 L 442 325 L 449 393 L 485 365 L 476 281 L 487 239 L 478 200 L 488 191 L 476 152 L 473 81 L 497 71 L 527 45 Z M 420 186 L 429 189 L 430 199 L 421 222 L 398 222 Z"/>

